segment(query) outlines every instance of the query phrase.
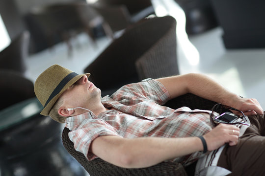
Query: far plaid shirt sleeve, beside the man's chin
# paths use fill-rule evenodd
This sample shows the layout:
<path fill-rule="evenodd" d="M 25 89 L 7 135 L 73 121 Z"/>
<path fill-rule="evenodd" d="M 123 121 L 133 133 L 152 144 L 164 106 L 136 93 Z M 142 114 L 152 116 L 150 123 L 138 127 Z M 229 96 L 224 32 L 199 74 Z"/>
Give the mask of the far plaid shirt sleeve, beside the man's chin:
<path fill-rule="evenodd" d="M 164 85 L 157 80 L 149 78 L 139 83 L 123 86 L 112 94 L 111 98 L 116 101 L 149 99 L 159 105 L 163 105 L 170 100 L 170 95 Z"/>

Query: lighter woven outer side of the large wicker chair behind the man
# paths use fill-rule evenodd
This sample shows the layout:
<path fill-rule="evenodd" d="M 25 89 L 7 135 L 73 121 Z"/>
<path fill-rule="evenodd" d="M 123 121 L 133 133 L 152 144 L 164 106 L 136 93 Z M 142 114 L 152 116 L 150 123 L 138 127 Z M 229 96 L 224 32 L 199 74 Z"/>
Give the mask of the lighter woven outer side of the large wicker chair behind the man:
<path fill-rule="evenodd" d="M 173 17 L 159 22 L 163 35 L 135 62 L 139 79 L 160 78 L 179 74 L 177 62 L 176 21 Z"/>

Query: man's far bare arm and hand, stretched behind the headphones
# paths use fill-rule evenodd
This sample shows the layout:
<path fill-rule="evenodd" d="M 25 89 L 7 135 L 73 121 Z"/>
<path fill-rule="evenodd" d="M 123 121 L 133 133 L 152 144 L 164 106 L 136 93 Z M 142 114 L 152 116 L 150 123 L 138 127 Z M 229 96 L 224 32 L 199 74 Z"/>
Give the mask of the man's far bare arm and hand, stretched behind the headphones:
<path fill-rule="evenodd" d="M 263 109 L 256 99 L 240 98 L 237 94 L 232 93 L 211 78 L 202 74 L 189 73 L 159 78 L 157 80 L 167 88 L 172 98 L 185 93 L 193 93 L 200 97 L 241 110 L 245 115 L 263 113 Z"/>

